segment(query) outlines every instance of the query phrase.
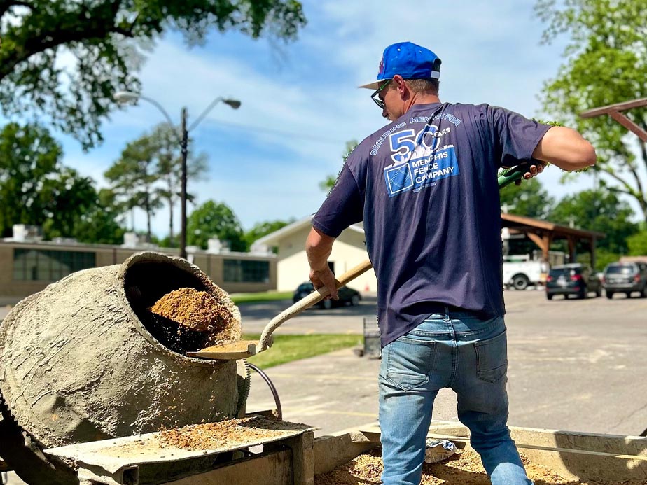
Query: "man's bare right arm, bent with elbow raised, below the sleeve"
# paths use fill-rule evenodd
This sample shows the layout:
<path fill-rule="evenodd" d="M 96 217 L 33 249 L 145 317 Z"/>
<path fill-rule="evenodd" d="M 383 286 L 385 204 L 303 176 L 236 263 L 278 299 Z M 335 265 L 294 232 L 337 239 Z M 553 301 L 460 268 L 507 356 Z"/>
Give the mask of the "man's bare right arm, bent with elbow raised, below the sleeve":
<path fill-rule="evenodd" d="M 595 164 L 595 149 L 576 130 L 561 126 L 548 129 L 537 143 L 532 157 L 573 171 Z"/>

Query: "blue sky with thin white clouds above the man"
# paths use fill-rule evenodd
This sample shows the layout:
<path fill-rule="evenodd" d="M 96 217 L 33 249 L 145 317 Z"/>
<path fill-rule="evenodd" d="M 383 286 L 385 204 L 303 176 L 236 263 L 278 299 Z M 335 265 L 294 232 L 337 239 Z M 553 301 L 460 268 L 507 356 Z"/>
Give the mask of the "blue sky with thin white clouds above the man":
<path fill-rule="evenodd" d="M 245 229 L 316 211 L 326 195 L 319 183 L 338 173 L 346 141 L 386 124 L 370 92 L 356 86 L 375 78 L 387 45 L 412 41 L 436 52 L 443 59 L 443 101 L 487 102 L 527 116 L 541 115 L 541 85 L 561 63 L 565 39 L 540 45 L 543 24 L 534 0 L 303 3 L 308 24 L 293 43 L 230 32 L 188 49 L 181 36 L 168 34 L 141 70 L 142 94 L 178 123 L 182 106 L 190 125 L 216 97 L 242 101 L 237 111 L 218 104 L 191 133 L 195 149 L 209 157 L 209 174 L 190 182 L 189 191 L 198 204 L 228 204 Z M 163 120 L 141 101 L 113 113 L 103 127 L 104 144 L 89 153 L 59 136 L 64 164 L 104 186 L 103 173 L 125 143 Z M 557 198 L 592 187 L 589 176 L 569 185 L 559 185 L 559 176 L 556 167 L 542 175 Z M 179 209 L 176 214 L 177 229 Z M 167 234 L 167 219 L 165 209 L 155 216 L 156 234 Z M 135 222 L 144 229 L 143 214 Z"/>

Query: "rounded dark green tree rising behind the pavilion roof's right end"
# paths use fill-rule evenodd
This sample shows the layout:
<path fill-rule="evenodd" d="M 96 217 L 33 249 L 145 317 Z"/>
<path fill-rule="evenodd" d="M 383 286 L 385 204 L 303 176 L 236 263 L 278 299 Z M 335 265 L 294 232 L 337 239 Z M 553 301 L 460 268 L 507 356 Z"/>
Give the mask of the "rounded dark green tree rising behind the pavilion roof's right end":
<path fill-rule="evenodd" d="M 584 190 L 560 200 L 550 213 L 550 220 L 585 230 L 604 232 L 606 238 L 597 246 L 615 254 L 627 253 L 627 238 L 638 232 L 631 221 L 634 212 L 609 190 Z"/>

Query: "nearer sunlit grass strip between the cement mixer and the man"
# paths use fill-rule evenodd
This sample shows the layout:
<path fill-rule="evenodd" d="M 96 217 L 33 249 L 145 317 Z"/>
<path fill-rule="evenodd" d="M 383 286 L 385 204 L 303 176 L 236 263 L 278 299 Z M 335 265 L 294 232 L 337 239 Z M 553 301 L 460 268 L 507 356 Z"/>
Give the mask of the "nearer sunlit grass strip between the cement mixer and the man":
<path fill-rule="evenodd" d="M 244 335 L 242 338 L 258 340 L 260 335 Z M 293 360 L 347 349 L 361 342 L 361 335 L 352 334 L 274 335 L 274 345 L 270 349 L 247 360 L 261 369 L 267 369 Z"/>

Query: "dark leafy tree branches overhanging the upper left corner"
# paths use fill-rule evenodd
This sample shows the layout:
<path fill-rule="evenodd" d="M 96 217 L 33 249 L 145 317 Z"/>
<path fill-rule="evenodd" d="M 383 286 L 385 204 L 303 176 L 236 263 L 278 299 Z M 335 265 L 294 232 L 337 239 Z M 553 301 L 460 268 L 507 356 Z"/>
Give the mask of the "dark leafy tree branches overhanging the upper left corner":
<path fill-rule="evenodd" d="M 0 0 L 0 106 L 90 148 L 113 93 L 139 89 L 141 47 L 165 31 L 197 45 L 211 29 L 289 41 L 303 25 L 295 0 Z"/>

